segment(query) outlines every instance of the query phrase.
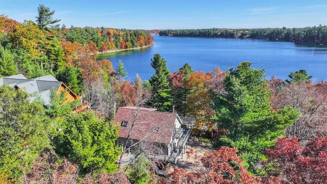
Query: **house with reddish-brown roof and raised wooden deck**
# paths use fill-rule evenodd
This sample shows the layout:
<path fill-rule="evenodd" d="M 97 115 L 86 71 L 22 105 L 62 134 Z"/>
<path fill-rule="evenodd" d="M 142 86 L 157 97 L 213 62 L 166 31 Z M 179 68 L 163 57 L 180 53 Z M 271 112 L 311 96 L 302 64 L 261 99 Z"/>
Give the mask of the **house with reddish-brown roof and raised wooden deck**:
<path fill-rule="evenodd" d="M 174 165 L 179 155 L 183 154 L 192 131 L 192 125 L 186 127 L 177 113 L 160 112 L 154 108 L 119 107 L 114 123 L 120 126 L 119 143 L 126 146 L 129 139 L 131 143 L 144 141 L 159 144 L 164 150 L 147 156 Z"/>

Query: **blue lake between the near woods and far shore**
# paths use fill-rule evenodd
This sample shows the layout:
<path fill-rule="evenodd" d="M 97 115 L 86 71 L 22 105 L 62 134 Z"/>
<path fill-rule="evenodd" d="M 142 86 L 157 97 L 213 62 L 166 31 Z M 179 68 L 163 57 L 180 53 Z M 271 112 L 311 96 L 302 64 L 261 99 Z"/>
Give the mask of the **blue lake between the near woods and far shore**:
<path fill-rule="evenodd" d="M 194 71 L 222 71 L 236 67 L 242 61 L 252 62 L 253 68 L 265 68 L 267 79 L 271 76 L 288 79 L 291 72 L 305 69 L 314 82 L 327 80 L 327 48 L 253 39 L 190 38 L 153 36 L 153 47 L 99 54 L 97 60 L 108 59 L 113 67 L 122 60 L 128 76 L 134 80 L 138 74 L 143 80 L 154 74 L 151 67 L 153 55 L 159 53 L 167 61 L 171 73 L 189 63 Z"/>

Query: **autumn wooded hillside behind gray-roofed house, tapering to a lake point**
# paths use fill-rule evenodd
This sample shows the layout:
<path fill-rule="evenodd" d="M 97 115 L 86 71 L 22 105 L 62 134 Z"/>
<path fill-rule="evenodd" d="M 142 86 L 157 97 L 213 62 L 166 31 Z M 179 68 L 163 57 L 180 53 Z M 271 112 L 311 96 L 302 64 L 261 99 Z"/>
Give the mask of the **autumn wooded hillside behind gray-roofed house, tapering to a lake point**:
<path fill-rule="evenodd" d="M 2 69 L 0 76 L 22 73 L 30 78 L 56 74 L 67 63 L 90 53 L 139 48 L 152 45 L 149 33 L 139 30 L 105 28 L 43 28 L 33 21 L 16 22 L 1 15 Z M 83 50 L 83 51 L 82 51 Z M 15 58 L 15 62 L 12 59 Z M 72 64 L 72 63 L 71 63 Z"/>

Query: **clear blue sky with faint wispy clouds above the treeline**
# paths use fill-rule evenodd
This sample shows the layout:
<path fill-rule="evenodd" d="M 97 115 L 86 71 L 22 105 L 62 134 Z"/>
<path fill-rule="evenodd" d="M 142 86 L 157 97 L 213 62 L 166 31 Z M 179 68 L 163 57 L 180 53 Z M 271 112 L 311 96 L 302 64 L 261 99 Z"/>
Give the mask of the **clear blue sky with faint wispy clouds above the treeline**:
<path fill-rule="evenodd" d="M 116 29 L 303 28 L 327 26 L 327 0 L 0 0 L 0 15 L 36 20 L 42 4 L 60 25 Z"/>

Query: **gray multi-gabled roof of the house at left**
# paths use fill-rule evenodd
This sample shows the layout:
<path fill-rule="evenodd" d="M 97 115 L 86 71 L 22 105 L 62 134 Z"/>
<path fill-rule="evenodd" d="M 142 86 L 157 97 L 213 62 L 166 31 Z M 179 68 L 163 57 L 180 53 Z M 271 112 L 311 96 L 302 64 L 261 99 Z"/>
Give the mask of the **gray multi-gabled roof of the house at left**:
<path fill-rule="evenodd" d="M 61 82 L 52 75 L 38 77 L 35 79 L 27 79 L 22 74 L 12 75 L 0 78 L 0 85 L 8 84 L 11 87 L 24 89 L 27 93 L 41 97 L 45 105 L 50 104 L 51 89 L 58 90 Z M 30 97 L 35 100 L 36 97 Z"/>

